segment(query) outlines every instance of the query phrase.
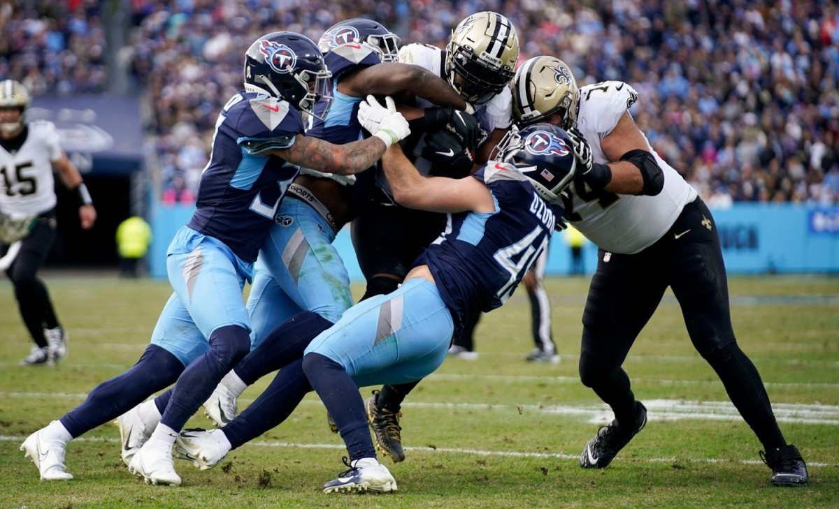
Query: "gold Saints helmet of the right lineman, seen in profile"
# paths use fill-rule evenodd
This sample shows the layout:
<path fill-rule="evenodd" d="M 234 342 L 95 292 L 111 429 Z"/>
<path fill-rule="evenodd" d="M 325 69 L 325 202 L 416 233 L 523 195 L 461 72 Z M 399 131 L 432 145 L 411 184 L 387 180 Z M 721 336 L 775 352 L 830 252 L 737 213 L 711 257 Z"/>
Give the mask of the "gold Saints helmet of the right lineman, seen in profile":
<path fill-rule="evenodd" d="M 513 121 L 519 127 L 549 121 L 556 113 L 562 116 L 563 129 L 575 125 L 580 90 L 571 69 L 562 60 L 543 55 L 525 61 L 510 88 Z"/>

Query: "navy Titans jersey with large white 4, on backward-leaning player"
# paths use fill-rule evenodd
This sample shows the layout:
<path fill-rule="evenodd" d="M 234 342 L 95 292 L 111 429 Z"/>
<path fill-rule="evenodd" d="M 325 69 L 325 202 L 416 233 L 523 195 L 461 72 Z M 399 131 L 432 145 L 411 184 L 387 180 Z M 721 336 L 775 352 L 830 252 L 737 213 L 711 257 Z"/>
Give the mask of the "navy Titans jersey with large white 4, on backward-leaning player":
<path fill-rule="evenodd" d="M 468 316 L 492 311 L 513 295 L 561 214 L 511 165 L 489 162 L 472 177 L 489 188 L 495 212 L 449 214 L 446 230 L 414 262 L 429 266 L 456 331 Z"/>

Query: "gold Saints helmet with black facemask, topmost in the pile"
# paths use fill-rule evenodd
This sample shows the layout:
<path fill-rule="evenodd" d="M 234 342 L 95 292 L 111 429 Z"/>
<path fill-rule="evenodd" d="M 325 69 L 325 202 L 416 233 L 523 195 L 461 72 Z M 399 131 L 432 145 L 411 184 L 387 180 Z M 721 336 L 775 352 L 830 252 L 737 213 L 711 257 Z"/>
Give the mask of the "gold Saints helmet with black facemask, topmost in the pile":
<path fill-rule="evenodd" d="M 446 77 L 463 100 L 482 105 L 503 90 L 519 61 L 519 36 L 501 14 L 485 11 L 461 21 L 446 46 Z"/>

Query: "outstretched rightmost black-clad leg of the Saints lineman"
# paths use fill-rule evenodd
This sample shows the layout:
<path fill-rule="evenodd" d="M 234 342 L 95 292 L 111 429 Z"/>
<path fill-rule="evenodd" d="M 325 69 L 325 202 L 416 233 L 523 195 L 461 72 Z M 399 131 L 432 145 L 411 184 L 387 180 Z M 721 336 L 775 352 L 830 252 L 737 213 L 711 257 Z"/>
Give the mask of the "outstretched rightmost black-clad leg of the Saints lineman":
<path fill-rule="evenodd" d="M 673 231 L 688 234 L 670 244 L 672 288 L 679 300 L 685 325 L 696 350 L 711 364 L 728 397 L 758 436 L 767 464 L 774 470 L 773 484 L 806 484 L 804 460 L 788 445 L 775 419 L 769 394 L 758 369 L 737 345 L 728 301 L 727 275 L 717 227 L 701 201 L 690 203 Z"/>

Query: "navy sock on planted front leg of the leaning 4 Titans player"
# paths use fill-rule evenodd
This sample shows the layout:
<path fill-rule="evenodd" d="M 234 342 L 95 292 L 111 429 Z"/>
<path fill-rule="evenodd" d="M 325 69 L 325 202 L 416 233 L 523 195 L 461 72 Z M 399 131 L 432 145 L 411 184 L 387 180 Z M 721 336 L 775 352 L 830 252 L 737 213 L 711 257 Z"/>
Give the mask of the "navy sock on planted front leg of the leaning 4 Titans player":
<path fill-rule="evenodd" d="M 303 371 L 341 430 L 350 461 L 375 458 L 362 395 L 344 367 L 329 357 L 312 352 L 303 357 Z"/>

